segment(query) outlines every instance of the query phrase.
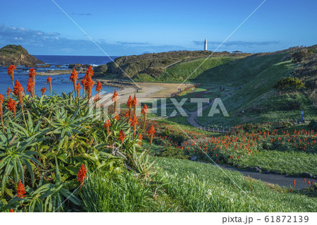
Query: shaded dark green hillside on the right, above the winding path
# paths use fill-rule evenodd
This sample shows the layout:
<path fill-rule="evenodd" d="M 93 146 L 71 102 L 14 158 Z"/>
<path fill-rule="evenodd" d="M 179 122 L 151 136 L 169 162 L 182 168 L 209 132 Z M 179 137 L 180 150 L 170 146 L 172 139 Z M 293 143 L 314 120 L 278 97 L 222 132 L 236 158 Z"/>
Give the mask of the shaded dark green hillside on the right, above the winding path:
<path fill-rule="evenodd" d="M 197 121 L 201 125 L 217 124 L 232 126 L 246 122 L 273 121 L 300 118 L 304 111 L 306 119 L 317 118 L 316 98 L 316 46 L 266 55 L 252 55 L 240 59 L 229 59 L 200 74 L 193 74 L 190 81 L 201 83 L 201 93 L 185 97 L 220 97 L 230 117 L 208 116 L 211 107 Z M 297 59 L 297 55 L 302 55 Z M 214 59 L 211 59 L 214 60 Z M 187 63 L 187 67 L 192 63 Z M 170 71 L 181 71 L 185 65 L 176 65 Z M 196 66 L 196 65 L 195 65 Z M 199 73 L 197 72 L 197 73 Z M 171 74 L 171 73 L 170 73 Z M 275 89 L 278 80 L 293 77 L 304 83 L 305 88 Z M 208 92 L 211 85 L 227 88 L 223 92 Z M 229 89 L 234 87 L 234 89 Z M 208 93 L 206 93 L 208 92 Z M 227 92 L 228 95 L 223 95 Z M 243 113 L 242 113 L 243 111 Z"/>

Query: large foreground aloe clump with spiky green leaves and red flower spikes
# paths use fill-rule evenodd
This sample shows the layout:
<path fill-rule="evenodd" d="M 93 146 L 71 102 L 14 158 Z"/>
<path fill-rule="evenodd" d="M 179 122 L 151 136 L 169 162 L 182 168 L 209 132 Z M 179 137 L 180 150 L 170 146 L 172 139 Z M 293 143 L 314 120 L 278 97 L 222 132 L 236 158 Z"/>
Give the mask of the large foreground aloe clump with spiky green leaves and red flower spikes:
<path fill-rule="evenodd" d="M 12 80 L 13 72 L 11 66 L 8 74 Z M 88 68 L 81 96 L 77 73 L 73 70 L 70 80 L 74 82 L 74 96 L 48 97 L 43 91 L 42 97 L 37 97 L 34 95 L 36 72 L 31 69 L 27 84 L 30 95 L 24 95 L 18 80 L 13 92 L 8 91 L 7 97 L 0 95 L 1 211 L 82 210 L 85 195 L 80 193 L 86 179 L 95 171 L 118 176 L 128 167 L 140 182 L 152 181 L 153 163 L 149 162 L 148 150 L 140 146 L 139 134 L 143 130 L 137 130 L 135 113 L 131 112 L 130 123 L 126 118 L 119 119 L 118 114 L 112 118 L 97 109 L 99 95 L 94 102 L 90 101 L 92 75 L 92 68 Z M 97 85 L 97 91 L 100 87 Z M 115 107 L 117 98 L 115 92 Z M 132 109 L 136 104 L 135 97 Z M 152 136 L 155 130 L 152 128 L 148 133 Z"/>

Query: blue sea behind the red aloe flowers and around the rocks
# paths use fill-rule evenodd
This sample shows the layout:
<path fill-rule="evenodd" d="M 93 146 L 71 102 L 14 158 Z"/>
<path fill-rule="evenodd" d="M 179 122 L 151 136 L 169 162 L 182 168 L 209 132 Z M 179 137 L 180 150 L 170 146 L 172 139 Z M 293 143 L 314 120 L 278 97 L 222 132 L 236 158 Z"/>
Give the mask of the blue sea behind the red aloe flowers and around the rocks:
<path fill-rule="evenodd" d="M 35 68 L 37 72 L 43 71 L 52 71 L 52 70 L 66 70 L 68 69 L 68 64 L 71 63 L 80 63 L 80 64 L 89 64 L 92 66 L 99 66 L 101 64 L 106 64 L 111 61 L 111 59 L 116 59 L 116 56 L 111 56 L 109 59 L 107 56 L 41 56 L 35 55 L 37 59 L 44 61 L 46 64 L 50 64 L 49 68 Z M 61 65 L 61 67 L 56 67 Z M 26 92 L 27 80 L 29 78 L 29 67 L 25 66 L 17 66 L 17 70 L 14 71 L 14 80 L 19 80 L 21 85 Z M 0 66 L 0 94 L 6 95 L 6 90 L 8 87 L 12 87 L 12 81 L 10 75 L 8 75 L 8 68 Z M 81 79 L 84 77 L 84 73 L 78 74 L 78 78 Z M 46 84 L 46 75 L 38 75 L 35 80 L 35 95 L 42 96 L 42 92 L 40 91 L 42 87 L 46 87 L 46 95 L 49 95 L 49 84 Z M 61 95 L 62 92 L 66 94 L 72 92 L 74 90 L 73 83 L 69 80 L 70 74 L 62 74 L 62 75 L 51 75 L 52 78 L 52 91 L 57 95 Z M 96 87 L 94 85 L 94 87 Z M 113 92 L 115 87 L 103 86 L 104 92 Z M 82 92 L 82 90 L 80 90 Z M 96 95 L 97 92 L 95 88 L 92 91 L 92 95 Z"/>

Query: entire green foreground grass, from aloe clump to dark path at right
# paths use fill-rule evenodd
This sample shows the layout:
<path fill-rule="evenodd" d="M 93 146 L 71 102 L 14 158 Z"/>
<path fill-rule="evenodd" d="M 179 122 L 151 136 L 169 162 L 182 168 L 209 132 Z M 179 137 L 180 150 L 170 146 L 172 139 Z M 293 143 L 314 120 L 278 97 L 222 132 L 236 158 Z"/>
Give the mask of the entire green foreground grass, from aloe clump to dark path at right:
<path fill-rule="evenodd" d="M 211 164 L 151 159 L 158 174 L 150 183 L 128 171 L 117 176 L 94 174 L 80 193 L 85 211 L 316 212 L 315 198 L 303 191 L 290 192 L 234 171 L 224 174 Z"/>

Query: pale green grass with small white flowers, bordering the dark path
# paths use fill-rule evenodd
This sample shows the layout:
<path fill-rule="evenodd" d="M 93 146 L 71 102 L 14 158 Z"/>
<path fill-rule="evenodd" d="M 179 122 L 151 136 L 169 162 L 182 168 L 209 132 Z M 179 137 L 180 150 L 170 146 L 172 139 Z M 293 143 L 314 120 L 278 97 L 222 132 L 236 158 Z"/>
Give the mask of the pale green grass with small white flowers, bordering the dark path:
<path fill-rule="evenodd" d="M 227 176 L 211 164 L 155 159 L 156 168 L 168 181 L 166 193 L 185 212 L 316 212 L 313 197 L 268 187 L 238 172 L 225 171 Z"/>

